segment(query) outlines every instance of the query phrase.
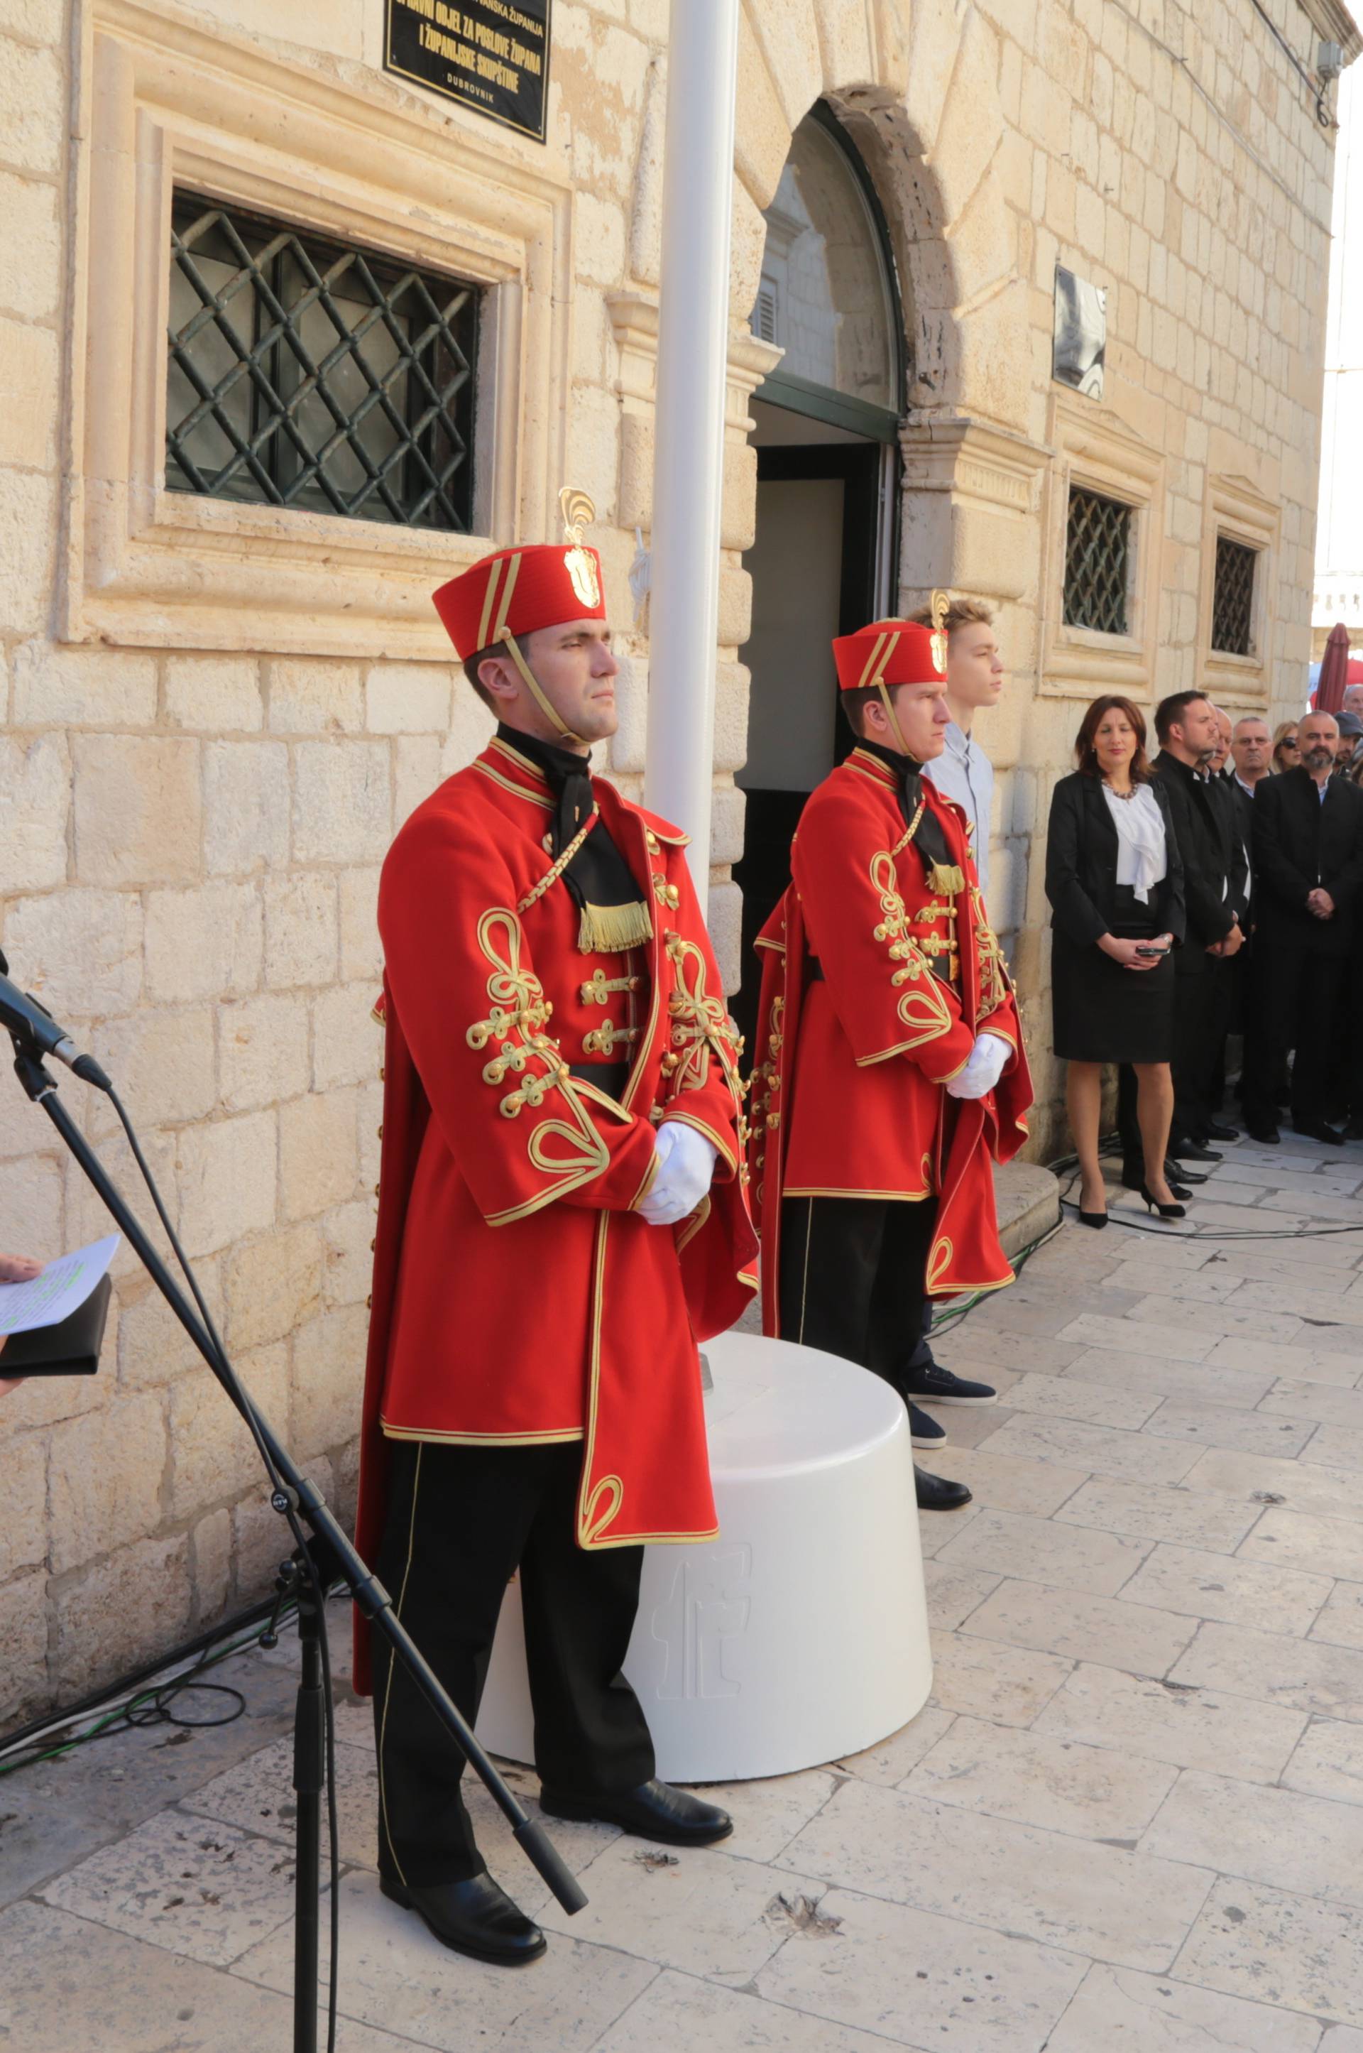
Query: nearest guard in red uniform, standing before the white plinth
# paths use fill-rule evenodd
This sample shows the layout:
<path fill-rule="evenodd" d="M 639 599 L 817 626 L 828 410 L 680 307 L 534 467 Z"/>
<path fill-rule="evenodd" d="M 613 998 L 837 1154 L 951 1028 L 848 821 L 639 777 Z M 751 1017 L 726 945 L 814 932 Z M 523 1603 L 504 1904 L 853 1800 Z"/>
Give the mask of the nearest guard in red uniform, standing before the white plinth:
<path fill-rule="evenodd" d="M 731 1823 L 653 1774 L 620 1665 L 642 1542 L 716 1532 L 696 1341 L 755 1289 L 735 1029 L 686 836 L 589 774 L 616 731 L 589 501 L 567 546 L 435 593 L 497 737 L 380 883 L 384 1154 L 359 1544 L 472 1718 L 519 1568 L 542 1807 L 673 1844 Z M 363 1626 L 380 1881 L 437 1938 L 528 1961 L 462 1759 Z"/>

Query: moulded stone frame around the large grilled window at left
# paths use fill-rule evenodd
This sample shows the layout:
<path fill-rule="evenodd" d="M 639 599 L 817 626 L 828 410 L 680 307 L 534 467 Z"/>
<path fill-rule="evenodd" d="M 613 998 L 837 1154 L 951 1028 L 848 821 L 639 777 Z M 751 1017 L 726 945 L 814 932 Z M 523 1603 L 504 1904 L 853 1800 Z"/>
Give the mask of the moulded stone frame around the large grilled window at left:
<path fill-rule="evenodd" d="M 571 187 L 474 117 L 374 74 L 359 90 L 156 0 L 86 0 L 80 31 L 62 638 L 450 661 L 431 589 L 554 526 Z M 484 287 L 474 534 L 166 491 L 174 187 Z"/>

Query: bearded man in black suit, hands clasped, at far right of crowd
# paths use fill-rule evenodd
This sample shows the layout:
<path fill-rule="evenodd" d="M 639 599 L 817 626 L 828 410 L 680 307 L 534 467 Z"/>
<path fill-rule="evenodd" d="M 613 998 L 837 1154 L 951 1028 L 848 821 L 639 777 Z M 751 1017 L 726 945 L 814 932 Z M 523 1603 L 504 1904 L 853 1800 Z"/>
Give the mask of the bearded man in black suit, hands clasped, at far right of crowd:
<path fill-rule="evenodd" d="M 1244 1061 L 1244 1115 L 1256 1141 L 1275 1141 L 1275 1080 L 1287 1049 L 1291 1123 L 1338 1146 L 1328 1123 L 1330 1051 L 1355 907 L 1363 893 L 1363 790 L 1332 776 L 1338 725 L 1330 712 L 1297 723 L 1301 766 L 1264 780 L 1254 799 L 1258 928 Z"/>

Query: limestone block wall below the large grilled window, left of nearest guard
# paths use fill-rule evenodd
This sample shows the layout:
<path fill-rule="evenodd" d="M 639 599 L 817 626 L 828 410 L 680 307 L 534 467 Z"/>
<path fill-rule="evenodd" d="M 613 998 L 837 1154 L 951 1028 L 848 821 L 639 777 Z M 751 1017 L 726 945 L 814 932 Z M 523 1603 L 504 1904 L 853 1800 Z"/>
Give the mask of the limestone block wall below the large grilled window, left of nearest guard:
<path fill-rule="evenodd" d="M 10 651 L 4 946 L 117 1080 L 242 1380 L 347 1513 L 378 864 L 486 731 L 447 663 Z M 109 1109 L 64 1096 L 135 1195 Z M 105 1230 L 53 1139 L 6 1082 L 4 1248 Z M 226 1398 L 131 1258 L 117 1277 L 101 1376 L 31 1382 L 0 1417 L 6 1710 L 172 1644 L 287 1552 Z"/>

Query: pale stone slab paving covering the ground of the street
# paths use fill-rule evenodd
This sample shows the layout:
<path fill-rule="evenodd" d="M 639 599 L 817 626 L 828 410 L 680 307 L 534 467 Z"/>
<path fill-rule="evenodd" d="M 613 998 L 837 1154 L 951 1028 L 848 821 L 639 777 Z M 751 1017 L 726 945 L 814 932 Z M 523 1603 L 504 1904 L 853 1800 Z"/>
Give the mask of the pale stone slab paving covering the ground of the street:
<path fill-rule="evenodd" d="M 940 1415 L 975 1503 L 922 1519 L 909 1727 L 716 1790 L 706 1852 L 554 1823 L 573 1920 L 470 1784 L 550 1934 L 523 1973 L 380 1897 L 335 1605 L 341 2053 L 1363 2053 L 1363 1146 L 1287 1141 L 1178 1232 L 1115 1197 L 942 1334 L 1002 1402 Z M 296 1665 L 238 1657 L 216 1735 L 0 1778 L 0 2047 L 289 2043 Z"/>

